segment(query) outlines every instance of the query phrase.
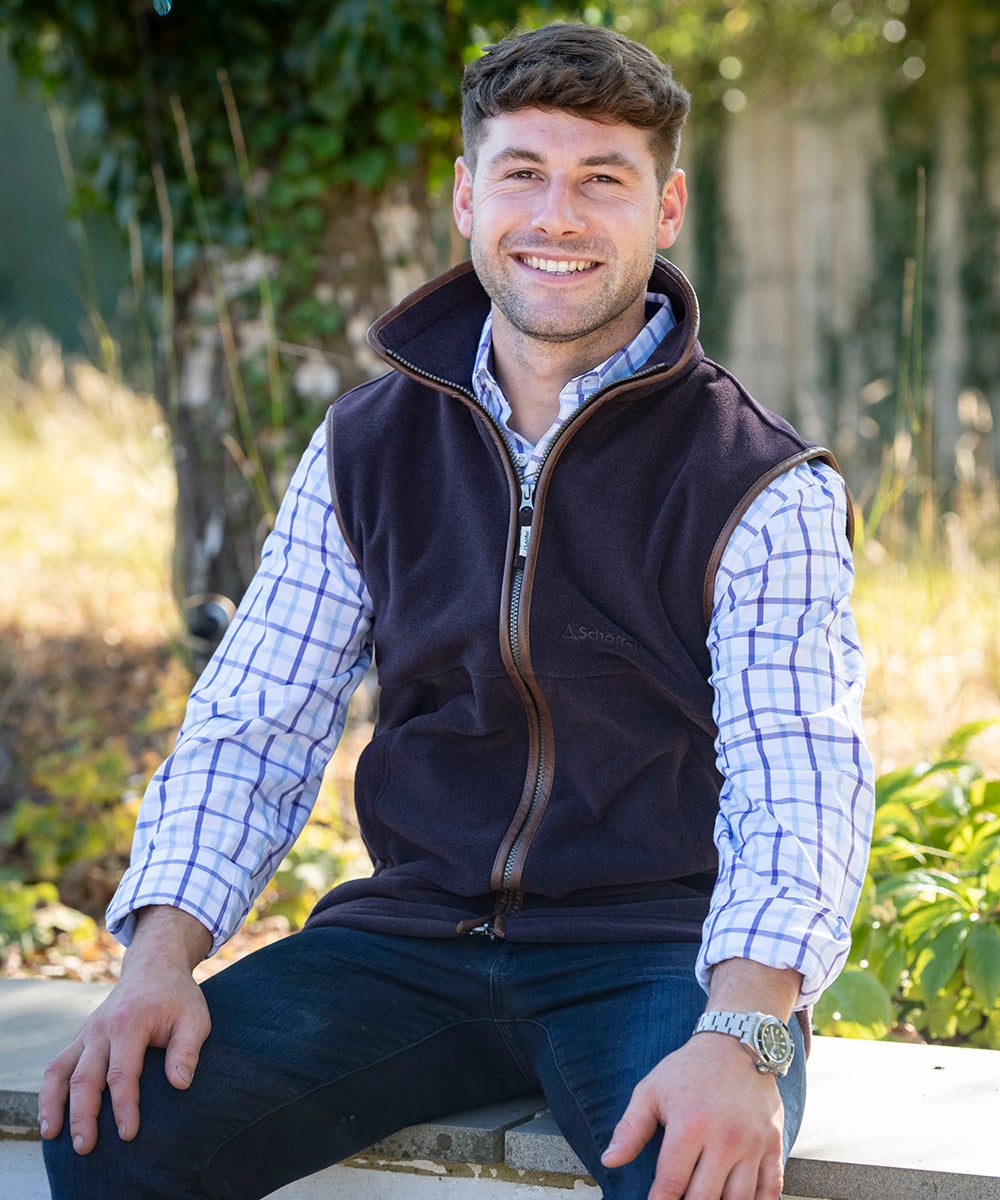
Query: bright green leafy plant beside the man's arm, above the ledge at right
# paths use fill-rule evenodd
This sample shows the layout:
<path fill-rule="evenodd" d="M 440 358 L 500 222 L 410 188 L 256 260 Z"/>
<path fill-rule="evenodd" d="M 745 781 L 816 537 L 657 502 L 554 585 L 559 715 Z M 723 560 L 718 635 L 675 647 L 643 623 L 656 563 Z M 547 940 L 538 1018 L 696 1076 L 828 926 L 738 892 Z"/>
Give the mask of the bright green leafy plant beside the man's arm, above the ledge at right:
<path fill-rule="evenodd" d="M 992 721 L 933 763 L 882 775 L 850 962 L 816 1007 L 821 1033 L 1000 1049 L 1000 780 L 968 756 Z"/>

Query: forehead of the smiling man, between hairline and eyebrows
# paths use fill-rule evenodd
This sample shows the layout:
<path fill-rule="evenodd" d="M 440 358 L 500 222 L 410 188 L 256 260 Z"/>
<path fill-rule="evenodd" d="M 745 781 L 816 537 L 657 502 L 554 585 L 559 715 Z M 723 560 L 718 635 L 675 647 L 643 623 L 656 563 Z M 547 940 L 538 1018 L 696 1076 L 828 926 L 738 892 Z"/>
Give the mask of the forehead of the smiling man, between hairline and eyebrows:
<path fill-rule="evenodd" d="M 594 121 L 561 109 L 521 108 L 483 122 L 477 155 L 480 167 L 517 156 L 561 166 L 618 163 L 643 173 L 655 172 L 646 130 L 621 121 Z"/>

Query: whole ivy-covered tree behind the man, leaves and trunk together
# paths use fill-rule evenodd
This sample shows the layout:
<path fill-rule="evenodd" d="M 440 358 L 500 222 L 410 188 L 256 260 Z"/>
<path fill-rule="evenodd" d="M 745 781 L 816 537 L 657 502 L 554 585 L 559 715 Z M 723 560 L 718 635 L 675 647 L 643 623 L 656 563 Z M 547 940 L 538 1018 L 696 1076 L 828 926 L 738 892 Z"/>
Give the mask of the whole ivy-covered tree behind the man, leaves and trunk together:
<path fill-rule="evenodd" d="M 345 308 L 367 323 L 390 299 L 378 198 L 402 184 L 426 218 L 459 149 L 462 66 L 522 5 L 203 0 L 162 17 L 150 0 L 4 7 L 0 37 L 67 126 L 76 215 L 100 208 L 128 233 L 138 328 L 124 360 L 155 386 L 178 449 L 178 598 L 238 601 L 322 415 L 293 386 L 297 367 L 318 352 L 340 390 L 364 378 Z M 426 228 L 413 241 L 409 263 L 430 263 Z M 233 286 L 240 272 L 248 286 Z M 211 328 L 204 343 L 199 324 Z M 191 359 L 216 343 L 224 372 L 200 377 L 198 400 L 181 404 Z M 227 536 L 205 565 L 209 514 L 223 511 Z"/>

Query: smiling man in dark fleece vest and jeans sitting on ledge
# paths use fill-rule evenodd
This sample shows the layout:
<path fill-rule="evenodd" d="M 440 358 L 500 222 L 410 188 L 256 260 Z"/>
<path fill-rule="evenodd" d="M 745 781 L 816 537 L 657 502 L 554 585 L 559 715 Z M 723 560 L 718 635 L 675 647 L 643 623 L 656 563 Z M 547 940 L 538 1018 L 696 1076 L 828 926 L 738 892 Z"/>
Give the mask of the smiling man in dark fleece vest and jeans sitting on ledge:
<path fill-rule="evenodd" d="M 150 785 L 121 982 L 40 1098 L 56 1198 L 262 1196 L 539 1086 L 605 1196 L 779 1195 L 870 823 L 844 487 L 657 258 L 669 68 L 550 26 L 463 86 L 474 271 L 373 326 Z M 373 874 L 199 990 L 372 642 Z"/>

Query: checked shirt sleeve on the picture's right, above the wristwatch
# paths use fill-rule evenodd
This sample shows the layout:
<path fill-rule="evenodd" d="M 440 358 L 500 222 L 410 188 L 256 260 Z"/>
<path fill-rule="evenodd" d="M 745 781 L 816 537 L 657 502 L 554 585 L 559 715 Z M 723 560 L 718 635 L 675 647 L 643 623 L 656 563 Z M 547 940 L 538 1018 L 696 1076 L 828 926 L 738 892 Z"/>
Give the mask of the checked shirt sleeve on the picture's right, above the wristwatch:
<path fill-rule="evenodd" d="M 842 970 L 868 864 L 874 779 L 839 475 L 804 463 L 733 532 L 708 637 L 724 784 L 719 877 L 697 974 L 725 959 L 792 967 L 798 1007 Z"/>

